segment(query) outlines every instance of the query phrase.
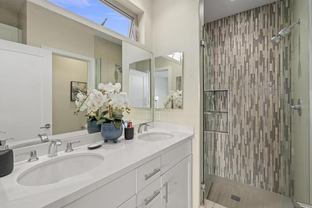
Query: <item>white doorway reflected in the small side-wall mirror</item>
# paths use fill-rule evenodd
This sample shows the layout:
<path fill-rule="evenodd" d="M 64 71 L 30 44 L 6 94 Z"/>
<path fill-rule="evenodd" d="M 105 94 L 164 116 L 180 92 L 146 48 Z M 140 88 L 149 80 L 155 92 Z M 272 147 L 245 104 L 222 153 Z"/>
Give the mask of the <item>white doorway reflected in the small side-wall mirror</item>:
<path fill-rule="evenodd" d="M 154 72 L 155 76 L 155 100 L 158 96 L 158 101 L 155 102 L 156 108 L 165 108 L 164 101 L 170 93 L 171 89 L 171 67 L 164 66 L 156 68 Z"/>

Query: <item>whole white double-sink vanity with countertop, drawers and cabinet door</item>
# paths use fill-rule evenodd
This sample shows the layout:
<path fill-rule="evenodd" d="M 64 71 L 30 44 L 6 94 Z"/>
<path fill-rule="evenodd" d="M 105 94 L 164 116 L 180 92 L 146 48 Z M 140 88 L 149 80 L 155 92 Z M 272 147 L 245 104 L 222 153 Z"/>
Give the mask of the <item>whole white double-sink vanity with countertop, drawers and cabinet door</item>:
<path fill-rule="evenodd" d="M 70 141 L 86 142 L 88 137 L 98 134 Z M 1 207 L 191 208 L 193 137 L 193 127 L 151 123 L 148 132 L 136 134 L 133 140 L 120 138 L 117 144 L 105 143 L 93 150 L 73 146 L 70 153 L 62 147 L 58 156 L 17 162 L 10 175 L 0 178 Z M 47 164 L 52 168 L 21 183 L 22 177 Z"/>

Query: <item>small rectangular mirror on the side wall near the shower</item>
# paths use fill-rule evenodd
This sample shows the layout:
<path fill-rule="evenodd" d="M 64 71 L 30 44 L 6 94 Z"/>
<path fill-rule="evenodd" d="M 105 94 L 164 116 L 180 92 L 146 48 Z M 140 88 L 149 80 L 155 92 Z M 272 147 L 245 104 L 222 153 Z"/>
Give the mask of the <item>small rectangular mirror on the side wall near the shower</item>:
<path fill-rule="evenodd" d="M 155 58 L 155 108 L 183 109 L 183 52 Z"/>

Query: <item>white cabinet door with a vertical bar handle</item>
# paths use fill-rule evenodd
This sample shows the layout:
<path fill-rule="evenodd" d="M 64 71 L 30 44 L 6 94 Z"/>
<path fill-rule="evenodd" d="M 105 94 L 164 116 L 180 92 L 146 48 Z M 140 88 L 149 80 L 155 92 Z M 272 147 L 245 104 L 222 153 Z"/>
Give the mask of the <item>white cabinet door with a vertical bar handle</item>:
<path fill-rule="evenodd" d="M 192 207 L 192 155 L 161 176 L 161 208 Z"/>

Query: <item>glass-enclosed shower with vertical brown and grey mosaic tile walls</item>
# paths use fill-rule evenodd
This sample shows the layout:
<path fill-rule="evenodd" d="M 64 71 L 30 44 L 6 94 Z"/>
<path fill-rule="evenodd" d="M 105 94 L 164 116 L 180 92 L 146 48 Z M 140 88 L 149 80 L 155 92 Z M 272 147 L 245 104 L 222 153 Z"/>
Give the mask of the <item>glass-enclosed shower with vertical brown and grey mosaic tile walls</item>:
<path fill-rule="evenodd" d="M 251 55 L 247 57 L 240 57 L 245 52 L 238 50 L 233 56 L 236 60 L 231 60 L 227 54 L 230 52 L 214 51 L 224 50 L 233 39 L 222 37 L 222 41 L 215 40 L 208 33 L 208 24 L 203 26 L 204 201 L 214 176 L 218 175 L 282 194 L 285 196 L 284 207 L 289 206 L 290 199 L 312 204 L 312 0 L 282 0 L 273 2 L 269 8 L 272 11 L 256 9 L 258 17 L 253 12 L 247 12 L 247 15 L 254 15 L 254 19 L 251 18 L 253 21 L 244 21 L 245 13 L 240 14 L 241 21 L 238 22 L 247 25 L 246 31 L 251 33 L 251 36 L 243 35 L 243 43 L 238 43 L 238 47 L 249 50 L 247 52 Z M 263 21 L 260 21 L 262 18 Z M 227 30 L 227 23 L 224 21 L 215 26 Z M 265 29 L 259 28 L 262 26 Z M 239 30 L 228 29 L 230 33 L 246 32 Z M 263 38 L 253 40 L 259 32 L 264 34 Z M 218 44 L 222 49 L 216 49 Z M 216 57 L 216 54 L 222 57 Z M 226 62 L 224 65 L 229 62 L 229 68 L 223 69 L 222 62 Z M 238 62 L 242 68 L 236 67 Z M 239 77 L 237 74 L 246 68 L 246 76 Z M 231 79 L 235 77 L 225 73 L 237 75 L 240 82 L 232 83 Z M 222 80 L 226 76 L 229 80 Z M 220 83 L 226 83 L 228 87 Z M 234 93 L 239 95 L 235 97 Z M 246 102 L 235 106 L 233 99 L 239 98 Z M 233 108 L 239 110 L 233 112 Z M 245 115 L 245 120 L 237 121 L 236 116 L 244 113 L 241 108 L 249 114 Z M 240 122 L 240 132 L 235 133 L 237 122 Z M 242 138 L 237 138 L 237 135 Z M 231 146 L 236 143 L 240 144 L 239 149 Z M 224 145 L 228 147 L 224 148 Z M 228 152 L 221 152 L 220 146 Z M 236 159 L 236 155 L 242 154 L 240 151 L 252 153 L 252 157 Z M 223 159 L 228 156 L 235 157 L 237 166 L 224 166 L 223 172 L 220 172 Z M 233 177 L 231 168 L 237 170 Z"/>

